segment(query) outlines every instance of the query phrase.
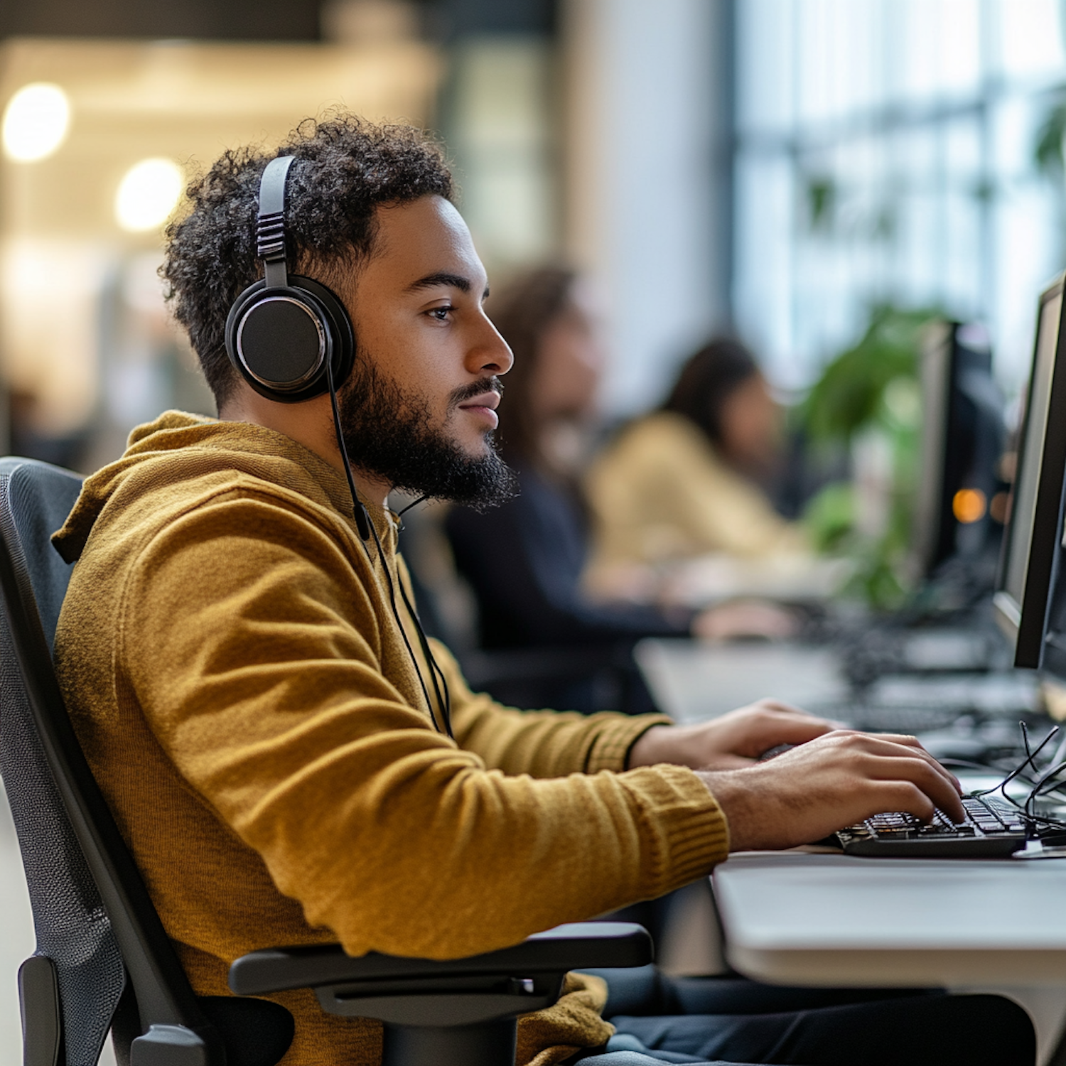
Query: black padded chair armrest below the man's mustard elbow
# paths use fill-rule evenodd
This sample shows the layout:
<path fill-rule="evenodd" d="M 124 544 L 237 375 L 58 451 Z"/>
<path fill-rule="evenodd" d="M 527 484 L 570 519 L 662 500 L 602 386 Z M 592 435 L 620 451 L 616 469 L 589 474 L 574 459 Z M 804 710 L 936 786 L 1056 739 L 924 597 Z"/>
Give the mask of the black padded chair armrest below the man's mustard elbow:
<path fill-rule="evenodd" d="M 651 937 L 641 925 L 576 922 L 535 933 L 511 948 L 443 960 L 374 952 L 353 958 L 340 944 L 268 948 L 233 963 L 229 987 L 238 996 L 259 996 L 358 981 L 565 973 L 582 967 L 644 966 L 652 955 Z"/>

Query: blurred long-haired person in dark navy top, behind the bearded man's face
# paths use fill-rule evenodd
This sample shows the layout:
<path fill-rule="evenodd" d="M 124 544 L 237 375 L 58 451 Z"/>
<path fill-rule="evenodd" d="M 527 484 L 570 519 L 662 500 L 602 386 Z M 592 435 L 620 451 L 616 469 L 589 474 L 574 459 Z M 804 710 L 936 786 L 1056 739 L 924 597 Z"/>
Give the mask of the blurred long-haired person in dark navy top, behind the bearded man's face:
<path fill-rule="evenodd" d="M 587 507 L 580 488 L 588 427 L 607 364 L 593 294 L 571 270 L 544 266 L 516 278 L 489 304 L 514 352 L 500 404 L 501 452 L 520 492 L 478 513 L 446 519 L 455 564 L 478 600 L 482 646 L 586 649 L 587 675 L 551 682 L 531 695 L 537 706 L 585 712 L 640 713 L 650 696 L 632 661 L 644 636 L 729 635 L 758 627 L 736 605 L 696 614 L 653 605 L 591 600 L 582 589 L 589 551 Z M 741 617 L 743 614 L 743 617 Z M 596 652 L 587 652 L 595 648 Z M 605 691 L 610 669 L 623 683 Z"/>

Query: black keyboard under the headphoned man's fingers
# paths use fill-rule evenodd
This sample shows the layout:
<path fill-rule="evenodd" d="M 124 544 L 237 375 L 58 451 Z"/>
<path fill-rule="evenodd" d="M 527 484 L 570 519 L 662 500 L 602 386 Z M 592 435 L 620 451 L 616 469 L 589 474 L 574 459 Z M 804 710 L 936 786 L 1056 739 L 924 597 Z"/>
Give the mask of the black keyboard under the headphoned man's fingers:
<path fill-rule="evenodd" d="M 914 814 L 874 814 L 841 829 L 837 839 L 847 855 L 911 858 L 990 858 L 1025 846 L 1025 826 L 1018 811 L 991 798 L 963 801 L 966 821 L 956 825 L 937 811 L 928 824 Z"/>

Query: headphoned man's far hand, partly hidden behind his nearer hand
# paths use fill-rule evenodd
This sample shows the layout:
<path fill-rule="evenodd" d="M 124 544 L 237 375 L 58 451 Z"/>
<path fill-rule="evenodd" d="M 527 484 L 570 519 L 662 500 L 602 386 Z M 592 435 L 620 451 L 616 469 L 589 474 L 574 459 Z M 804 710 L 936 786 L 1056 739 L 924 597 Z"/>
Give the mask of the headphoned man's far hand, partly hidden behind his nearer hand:
<path fill-rule="evenodd" d="M 652 726 L 630 749 L 629 766 L 673 762 L 693 770 L 739 769 L 779 744 L 804 744 L 835 728 L 780 700 L 760 699 L 694 726 Z"/>

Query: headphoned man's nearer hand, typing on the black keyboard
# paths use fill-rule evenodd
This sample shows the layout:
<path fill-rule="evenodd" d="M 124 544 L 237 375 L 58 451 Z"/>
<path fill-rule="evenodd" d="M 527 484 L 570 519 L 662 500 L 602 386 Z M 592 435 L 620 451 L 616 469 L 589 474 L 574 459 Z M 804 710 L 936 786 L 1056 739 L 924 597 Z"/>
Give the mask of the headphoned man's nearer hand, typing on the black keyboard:
<path fill-rule="evenodd" d="M 960 822 L 958 781 L 914 737 L 837 730 L 743 770 L 705 772 L 730 851 L 793 847 L 882 811 Z"/>

